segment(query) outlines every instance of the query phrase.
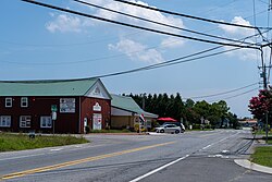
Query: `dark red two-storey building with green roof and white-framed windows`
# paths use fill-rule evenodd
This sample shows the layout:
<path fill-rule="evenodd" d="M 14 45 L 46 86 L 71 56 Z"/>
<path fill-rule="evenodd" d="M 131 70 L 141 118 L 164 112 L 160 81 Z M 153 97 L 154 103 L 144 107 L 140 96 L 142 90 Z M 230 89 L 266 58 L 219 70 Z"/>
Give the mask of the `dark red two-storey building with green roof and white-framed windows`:
<path fill-rule="evenodd" d="M 99 78 L 0 82 L 0 131 L 84 133 L 104 129 L 110 117 Z"/>

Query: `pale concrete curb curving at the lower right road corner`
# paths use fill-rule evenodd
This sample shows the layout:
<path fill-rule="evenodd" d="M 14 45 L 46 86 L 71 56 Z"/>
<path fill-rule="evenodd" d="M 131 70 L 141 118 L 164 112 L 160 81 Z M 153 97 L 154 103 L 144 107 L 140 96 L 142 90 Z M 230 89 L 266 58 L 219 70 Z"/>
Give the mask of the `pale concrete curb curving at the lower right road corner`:
<path fill-rule="evenodd" d="M 251 161 L 249 161 L 247 159 L 235 159 L 234 162 L 237 163 L 240 167 L 244 167 L 244 168 L 247 168 L 247 169 L 250 169 L 250 170 L 272 174 L 272 168 L 254 163 L 254 162 L 251 162 Z"/>

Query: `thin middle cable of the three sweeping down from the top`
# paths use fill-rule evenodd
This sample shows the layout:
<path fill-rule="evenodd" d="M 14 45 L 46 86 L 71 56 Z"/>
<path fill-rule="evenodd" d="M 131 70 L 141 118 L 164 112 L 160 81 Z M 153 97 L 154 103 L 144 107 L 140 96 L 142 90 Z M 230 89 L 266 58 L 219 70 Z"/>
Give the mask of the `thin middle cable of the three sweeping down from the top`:
<path fill-rule="evenodd" d="M 206 34 L 206 33 L 200 33 L 200 32 L 196 32 L 196 31 L 191 31 L 191 29 L 187 29 L 187 28 L 173 26 L 173 25 L 165 24 L 165 23 L 160 23 L 160 22 L 157 22 L 157 21 L 151 21 L 151 20 L 148 20 L 148 19 L 145 19 L 145 17 L 139 17 L 139 16 L 132 15 L 132 14 L 128 14 L 128 13 L 123 13 L 123 12 L 120 12 L 120 11 L 115 11 L 115 10 L 112 10 L 112 9 L 108 9 L 108 8 L 104 8 L 104 7 L 101 7 L 101 5 L 97 5 L 97 4 L 81 1 L 81 0 L 74 0 L 74 1 L 78 2 L 78 3 L 82 3 L 82 4 L 89 5 L 89 7 L 95 7 L 95 8 L 101 9 L 101 10 L 110 11 L 110 12 L 113 12 L 113 13 L 116 13 L 116 14 L 122 14 L 122 15 L 125 15 L 125 16 L 128 16 L 128 17 L 133 17 L 133 19 L 145 21 L 145 22 L 153 23 L 153 24 L 157 24 L 157 25 L 162 25 L 162 26 L 166 26 L 166 27 L 171 27 L 171 28 L 175 28 L 175 29 L 180 29 L 180 31 L 184 31 L 184 32 L 188 32 L 188 33 L 193 33 L 193 34 L 198 34 L 198 35 L 207 36 L 207 37 L 212 37 L 212 38 L 218 38 L 218 39 L 223 39 L 223 40 L 228 40 L 228 41 L 234 41 L 234 43 L 243 43 L 243 41 L 231 39 L 231 38 L 214 36 L 214 35 L 210 35 L 210 34 Z M 248 44 L 248 45 L 251 45 L 251 46 L 254 45 L 252 43 L 246 43 L 246 41 L 244 41 L 243 44 Z"/>

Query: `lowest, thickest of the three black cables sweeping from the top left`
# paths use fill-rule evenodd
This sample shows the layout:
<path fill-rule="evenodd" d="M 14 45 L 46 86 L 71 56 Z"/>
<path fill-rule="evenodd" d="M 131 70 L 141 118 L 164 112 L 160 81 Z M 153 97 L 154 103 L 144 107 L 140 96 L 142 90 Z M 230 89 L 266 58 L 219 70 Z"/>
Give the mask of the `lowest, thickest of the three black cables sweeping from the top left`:
<path fill-rule="evenodd" d="M 163 35 L 169 35 L 169 36 L 196 40 L 196 41 L 202 41 L 202 43 L 208 43 L 208 44 L 222 45 L 222 46 L 259 49 L 258 47 L 252 47 L 252 46 L 239 46 L 239 45 L 234 45 L 234 44 L 226 44 L 226 43 L 221 43 L 221 41 L 213 41 L 213 40 L 207 40 L 207 39 L 201 39 L 201 38 L 194 38 L 194 37 L 183 36 L 183 35 L 173 34 L 173 33 L 169 33 L 169 32 L 162 32 L 162 31 L 158 31 L 158 29 L 147 28 L 147 27 L 138 26 L 138 25 L 133 25 L 133 24 L 127 24 L 127 23 L 123 23 L 123 22 L 112 21 L 112 20 L 109 20 L 109 19 L 94 16 L 94 15 L 90 15 L 90 14 L 86 14 L 86 13 L 82 13 L 82 12 L 77 12 L 77 11 L 73 11 L 73 10 L 69 10 L 69 9 L 64 9 L 64 8 L 60 8 L 60 7 L 38 2 L 38 1 L 33 1 L 33 0 L 22 0 L 22 1 L 33 3 L 33 4 L 37 4 L 37 5 L 40 5 L 40 7 L 46 7 L 46 8 L 49 8 L 49 9 L 54 9 L 54 10 L 59 10 L 59 11 L 63 11 L 63 12 L 85 16 L 85 17 L 89 17 L 89 19 L 95 19 L 95 20 L 99 20 L 99 21 L 103 21 L 103 22 L 110 22 L 110 23 L 113 23 L 113 24 L 119 24 L 119 25 L 128 26 L 128 27 L 133 27 L 133 28 L 144 29 L 144 31 L 148 31 L 148 32 L 152 32 L 152 33 L 158 33 L 158 34 L 163 34 Z"/>

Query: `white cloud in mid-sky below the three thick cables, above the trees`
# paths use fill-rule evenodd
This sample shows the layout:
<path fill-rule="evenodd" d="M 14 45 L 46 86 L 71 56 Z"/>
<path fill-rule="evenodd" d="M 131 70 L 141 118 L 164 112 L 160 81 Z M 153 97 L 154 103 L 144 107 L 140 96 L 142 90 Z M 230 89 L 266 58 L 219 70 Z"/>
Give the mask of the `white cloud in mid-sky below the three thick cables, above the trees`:
<path fill-rule="evenodd" d="M 163 62 L 163 58 L 156 49 L 147 49 L 145 45 L 131 39 L 122 39 L 115 45 L 109 45 L 109 49 L 125 53 L 129 59 L 149 63 Z"/>

